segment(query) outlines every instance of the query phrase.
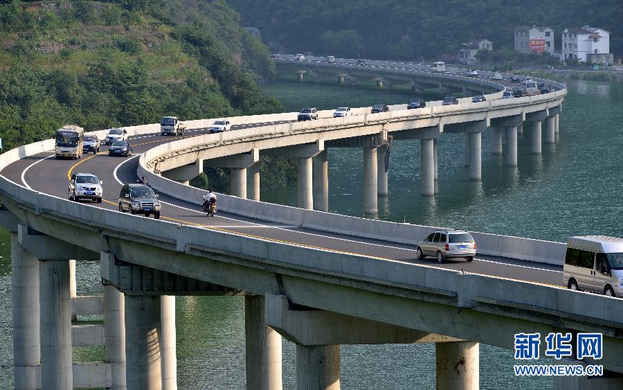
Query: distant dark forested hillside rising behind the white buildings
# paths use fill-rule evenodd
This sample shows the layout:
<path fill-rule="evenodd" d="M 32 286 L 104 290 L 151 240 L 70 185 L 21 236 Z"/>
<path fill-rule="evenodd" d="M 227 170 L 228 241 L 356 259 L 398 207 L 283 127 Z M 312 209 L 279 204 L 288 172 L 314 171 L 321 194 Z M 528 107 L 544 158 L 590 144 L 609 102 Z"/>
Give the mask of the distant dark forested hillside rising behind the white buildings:
<path fill-rule="evenodd" d="M 623 54 L 621 0 L 227 1 L 274 51 L 430 60 L 471 39 L 512 48 L 512 29 L 536 24 L 554 28 L 557 50 L 564 28 L 605 28 L 611 53 Z"/>

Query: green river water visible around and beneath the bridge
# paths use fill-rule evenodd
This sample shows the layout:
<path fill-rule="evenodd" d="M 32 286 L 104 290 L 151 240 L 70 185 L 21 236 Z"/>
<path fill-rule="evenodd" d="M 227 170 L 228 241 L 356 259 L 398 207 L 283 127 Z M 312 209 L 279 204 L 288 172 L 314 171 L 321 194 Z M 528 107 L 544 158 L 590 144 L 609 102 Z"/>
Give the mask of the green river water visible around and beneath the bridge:
<path fill-rule="evenodd" d="M 406 103 L 408 91 L 280 81 L 264 86 L 288 111 L 375 103 Z M 623 84 L 571 81 L 560 119 L 560 142 L 529 154 L 518 139 L 518 167 L 506 168 L 482 141 L 482 183 L 467 179 L 460 134 L 438 144 L 439 183 L 434 199 L 419 194 L 419 141 L 392 145 L 389 195 L 379 218 L 505 235 L 565 241 L 599 233 L 623 236 Z M 434 98 L 435 96 L 427 96 Z M 329 208 L 363 216 L 363 153 L 329 150 Z M 262 200 L 296 205 L 296 183 L 262 193 Z M 101 294 L 99 267 L 79 262 L 79 294 Z M 10 240 L 0 233 L 0 388 L 12 387 Z M 101 321 L 101 318 L 87 318 Z M 607 351 L 606 351 L 607 353 Z M 180 389 L 244 389 L 244 299 L 179 297 L 177 356 Z M 102 348 L 74 348 L 74 360 L 101 360 Z M 283 345 L 285 389 L 296 388 L 294 344 Z M 548 378 L 516 378 L 512 351 L 480 346 L 481 389 L 550 389 Z M 548 360 L 539 360 L 547 364 Z M 428 344 L 342 346 L 343 389 L 434 389 L 435 347 Z"/>

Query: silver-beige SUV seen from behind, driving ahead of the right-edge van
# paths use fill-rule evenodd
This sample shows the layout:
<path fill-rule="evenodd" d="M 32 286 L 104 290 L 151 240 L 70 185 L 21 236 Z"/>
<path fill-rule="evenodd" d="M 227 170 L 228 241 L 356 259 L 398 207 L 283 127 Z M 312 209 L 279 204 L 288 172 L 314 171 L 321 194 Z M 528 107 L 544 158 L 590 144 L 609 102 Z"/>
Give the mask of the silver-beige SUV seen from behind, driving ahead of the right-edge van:
<path fill-rule="evenodd" d="M 417 258 L 422 260 L 426 256 L 435 256 L 439 263 L 455 257 L 471 261 L 476 256 L 476 242 L 464 230 L 435 230 L 417 243 Z"/>

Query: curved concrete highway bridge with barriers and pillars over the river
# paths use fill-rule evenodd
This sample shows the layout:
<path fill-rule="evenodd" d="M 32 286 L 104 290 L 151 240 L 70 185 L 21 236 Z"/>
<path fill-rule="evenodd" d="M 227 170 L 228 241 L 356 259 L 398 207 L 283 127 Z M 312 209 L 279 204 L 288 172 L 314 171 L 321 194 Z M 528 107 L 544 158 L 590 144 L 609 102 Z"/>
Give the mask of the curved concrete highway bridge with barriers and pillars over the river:
<path fill-rule="evenodd" d="M 426 77 L 431 85 L 463 81 Z M 555 141 L 563 85 L 501 100 L 503 85 L 471 81 L 470 89 L 480 82 L 491 92 L 487 102 L 394 106 L 381 114 L 362 107 L 348 118 L 320 112 L 320 120 L 305 123 L 294 122 L 296 113 L 246 116 L 231 118 L 235 131 L 220 134 L 208 134 L 212 120 L 187 121 L 187 135 L 177 139 L 159 136 L 158 125 L 126 127 L 136 153 L 127 159 L 56 160 L 53 140 L 0 155 L 0 220 L 12 234 L 16 387 L 89 382 L 71 362 L 74 259 L 100 260 L 104 387 L 177 387 L 174 295 L 245 296 L 249 389 L 281 388 L 281 336 L 297 345 L 301 389 L 339 387 L 341 344 L 414 342 L 436 343 L 437 388 L 477 389 L 478 343 L 512 349 L 516 333 L 603 333 L 602 360 L 567 364 L 623 373 L 623 301 L 561 286 L 565 245 L 473 232 L 473 263 L 438 264 L 417 260 L 414 251 L 433 227 L 327 212 L 327 148 L 362 148 L 364 187 L 383 195 L 386 170 L 379 166 L 388 143 L 421 139 L 422 195 L 431 196 L 435 139 L 446 132 L 466 134 L 472 180 L 480 180 L 482 132 L 499 134 L 500 147 L 505 134 L 511 166 L 524 127 L 534 153 Z M 260 202 L 261 155 L 298 158 L 298 208 Z M 188 186 L 204 166 L 232 173 L 231 195 L 219 195 L 215 218 L 200 212 L 204 191 Z M 67 200 L 71 172 L 98 175 L 105 202 Z M 118 211 L 120 187 L 143 176 L 160 194 L 161 220 Z M 365 212 L 376 212 L 376 199 L 365 198 Z M 453 370 L 459 362 L 462 369 Z"/>

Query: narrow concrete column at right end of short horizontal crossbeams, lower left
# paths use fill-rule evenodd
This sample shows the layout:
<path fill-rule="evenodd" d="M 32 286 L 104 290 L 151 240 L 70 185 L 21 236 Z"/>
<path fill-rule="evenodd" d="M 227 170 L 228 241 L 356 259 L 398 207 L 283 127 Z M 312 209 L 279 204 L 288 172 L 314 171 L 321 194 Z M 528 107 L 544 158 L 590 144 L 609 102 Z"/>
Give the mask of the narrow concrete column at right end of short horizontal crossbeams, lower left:
<path fill-rule="evenodd" d="M 104 353 L 111 366 L 111 389 L 125 385 L 125 297 L 111 285 L 104 286 Z"/>

